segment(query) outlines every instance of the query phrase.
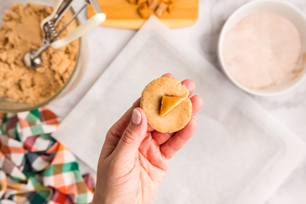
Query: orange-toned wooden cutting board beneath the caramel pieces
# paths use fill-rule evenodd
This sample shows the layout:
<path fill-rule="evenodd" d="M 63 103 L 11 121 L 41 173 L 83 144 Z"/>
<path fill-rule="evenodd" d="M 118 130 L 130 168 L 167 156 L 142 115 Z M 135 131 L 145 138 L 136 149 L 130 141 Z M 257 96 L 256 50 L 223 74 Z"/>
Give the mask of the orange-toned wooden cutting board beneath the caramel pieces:
<path fill-rule="evenodd" d="M 106 13 L 104 26 L 114 28 L 139 29 L 146 19 L 139 16 L 137 6 L 127 0 L 98 0 L 101 10 Z M 95 14 L 92 6 L 88 6 L 88 17 Z M 181 28 L 192 25 L 198 19 L 198 0 L 175 0 L 175 10 L 165 12 L 160 17 L 169 28 Z"/>

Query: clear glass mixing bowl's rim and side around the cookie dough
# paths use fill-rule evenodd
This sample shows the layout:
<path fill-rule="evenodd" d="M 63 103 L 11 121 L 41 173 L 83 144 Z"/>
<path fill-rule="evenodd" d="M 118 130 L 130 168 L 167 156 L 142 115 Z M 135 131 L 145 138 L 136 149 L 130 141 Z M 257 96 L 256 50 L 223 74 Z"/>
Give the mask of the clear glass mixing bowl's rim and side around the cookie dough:
<path fill-rule="evenodd" d="M 22 3 L 26 5 L 28 2 L 35 3 L 35 4 L 41 4 L 41 5 L 48 5 L 48 6 L 54 6 L 56 5 L 56 0 L 5 0 L 0 2 L 0 24 L 2 24 L 2 16 L 4 14 L 4 10 L 9 9 L 9 6 L 13 3 Z M 73 9 L 70 9 L 71 14 L 74 13 Z M 80 25 L 80 21 L 76 18 L 75 19 L 77 26 Z M 4 96 L 0 95 L 0 112 L 6 112 L 6 113 L 17 113 L 17 112 L 23 112 L 28 110 L 34 110 L 41 106 L 44 106 L 48 103 L 50 103 L 55 98 L 59 98 L 65 94 L 67 94 L 69 91 L 71 91 L 77 83 L 79 83 L 80 79 L 83 76 L 84 69 L 86 67 L 82 64 L 83 54 L 82 54 L 82 48 L 84 47 L 82 44 L 83 40 L 82 38 L 79 38 L 79 50 L 78 55 L 76 59 L 76 64 L 74 66 L 74 69 L 68 78 L 68 80 L 64 83 L 64 85 L 50 98 L 47 100 L 36 103 L 36 104 L 28 104 L 23 102 L 16 102 L 9 98 L 6 98 Z"/>

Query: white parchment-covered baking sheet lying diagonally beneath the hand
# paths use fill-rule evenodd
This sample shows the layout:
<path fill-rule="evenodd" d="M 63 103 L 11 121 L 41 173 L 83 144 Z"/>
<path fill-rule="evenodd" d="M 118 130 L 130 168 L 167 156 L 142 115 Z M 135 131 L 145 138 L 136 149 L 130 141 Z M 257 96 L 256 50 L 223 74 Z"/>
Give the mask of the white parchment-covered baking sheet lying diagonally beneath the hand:
<path fill-rule="evenodd" d="M 305 143 L 152 16 L 62 121 L 54 138 L 96 169 L 106 132 L 151 80 L 192 79 L 198 129 L 170 162 L 152 203 L 264 203 Z"/>

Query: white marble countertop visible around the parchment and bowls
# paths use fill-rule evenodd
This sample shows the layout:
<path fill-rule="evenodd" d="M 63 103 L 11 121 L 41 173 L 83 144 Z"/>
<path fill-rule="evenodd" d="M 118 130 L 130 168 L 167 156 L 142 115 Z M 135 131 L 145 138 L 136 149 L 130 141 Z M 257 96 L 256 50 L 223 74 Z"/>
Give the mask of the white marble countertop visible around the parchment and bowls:
<path fill-rule="evenodd" d="M 286 0 L 306 13 L 305 0 Z M 217 39 L 226 19 L 248 0 L 199 0 L 199 17 L 196 24 L 174 29 L 174 33 L 187 42 L 216 67 Z M 75 1 L 74 7 L 83 1 Z M 86 20 L 82 12 L 80 20 Z M 88 91 L 95 80 L 114 60 L 129 42 L 135 30 L 99 27 L 86 35 L 89 48 L 89 62 L 85 75 L 78 86 L 63 98 L 49 105 L 61 117 L 65 117 Z M 306 80 L 294 90 L 276 97 L 255 97 L 263 107 L 277 117 L 284 125 L 306 141 Z M 306 204 L 306 158 L 275 192 L 267 204 Z"/>

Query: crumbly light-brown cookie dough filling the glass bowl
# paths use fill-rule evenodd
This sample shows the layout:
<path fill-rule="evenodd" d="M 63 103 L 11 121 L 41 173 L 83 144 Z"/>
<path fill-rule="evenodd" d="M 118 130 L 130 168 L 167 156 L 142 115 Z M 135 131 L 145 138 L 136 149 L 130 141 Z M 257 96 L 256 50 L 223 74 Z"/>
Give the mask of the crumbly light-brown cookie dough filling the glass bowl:
<path fill-rule="evenodd" d="M 0 27 L 0 95 L 15 101 L 38 103 L 54 95 L 73 71 L 79 49 L 78 40 L 54 50 L 48 48 L 41 58 L 43 64 L 35 70 L 23 61 L 24 54 L 42 45 L 44 32 L 40 22 L 50 15 L 52 7 L 29 3 L 11 5 L 6 10 Z M 65 14 L 57 30 L 70 19 Z M 74 28 L 73 21 L 63 32 L 67 35 Z"/>

